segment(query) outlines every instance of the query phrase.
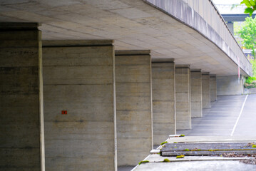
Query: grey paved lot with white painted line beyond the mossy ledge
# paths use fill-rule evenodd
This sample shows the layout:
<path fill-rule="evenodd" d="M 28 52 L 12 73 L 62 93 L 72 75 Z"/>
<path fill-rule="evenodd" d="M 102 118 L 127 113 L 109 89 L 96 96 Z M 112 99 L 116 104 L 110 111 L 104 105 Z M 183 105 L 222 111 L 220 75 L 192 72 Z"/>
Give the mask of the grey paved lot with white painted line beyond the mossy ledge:
<path fill-rule="evenodd" d="M 178 130 L 177 134 L 185 134 L 186 136 L 230 136 L 233 132 L 233 135 L 248 135 L 252 128 L 256 128 L 256 118 L 253 118 L 253 111 L 256 111 L 256 105 L 253 105 L 256 102 L 256 95 L 248 95 L 245 102 L 246 96 L 218 96 L 217 101 L 212 103 L 212 108 L 203 109 L 203 118 L 192 118 L 191 130 Z M 244 102 L 245 106 L 241 113 Z M 237 118 L 239 118 L 238 122 Z"/>

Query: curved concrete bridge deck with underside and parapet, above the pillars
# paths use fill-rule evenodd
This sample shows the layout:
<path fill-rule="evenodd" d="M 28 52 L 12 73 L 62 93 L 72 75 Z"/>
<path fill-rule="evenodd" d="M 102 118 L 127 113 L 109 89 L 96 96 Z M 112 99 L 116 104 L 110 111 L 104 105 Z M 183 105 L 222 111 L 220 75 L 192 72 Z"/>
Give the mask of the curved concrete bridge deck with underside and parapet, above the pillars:
<path fill-rule="evenodd" d="M 39 22 L 43 40 L 111 39 L 116 50 L 217 76 L 251 75 L 250 62 L 211 1 L 1 1 L 0 21 Z"/>

